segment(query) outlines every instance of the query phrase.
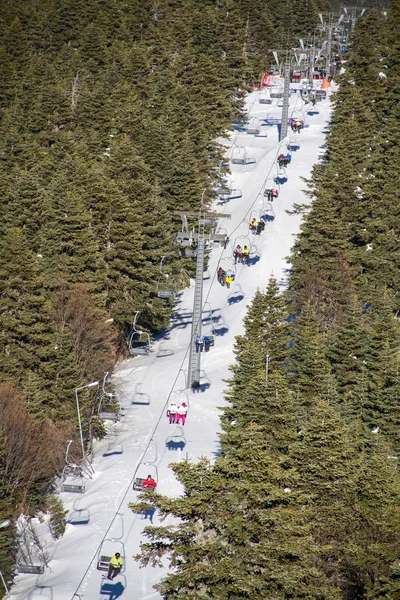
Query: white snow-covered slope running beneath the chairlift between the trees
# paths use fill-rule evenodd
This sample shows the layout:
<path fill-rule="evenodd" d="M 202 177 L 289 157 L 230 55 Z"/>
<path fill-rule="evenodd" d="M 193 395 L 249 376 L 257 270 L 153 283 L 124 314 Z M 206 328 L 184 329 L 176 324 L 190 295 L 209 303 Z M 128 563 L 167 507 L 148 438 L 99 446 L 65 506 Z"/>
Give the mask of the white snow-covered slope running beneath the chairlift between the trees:
<path fill-rule="evenodd" d="M 295 87 L 295 86 L 293 86 Z M 170 496 L 182 493 L 169 465 L 185 459 L 197 461 L 200 456 L 213 460 L 218 454 L 219 410 L 224 404 L 223 392 L 229 377 L 228 367 L 233 363 L 235 336 L 242 332 L 246 307 L 257 288 L 265 288 L 273 275 L 285 285 L 286 258 L 293 245 L 301 217 L 289 216 L 285 211 L 293 203 L 307 202 L 301 177 L 309 176 L 311 168 L 323 155 L 325 128 L 330 118 L 328 99 L 318 102 L 319 114 L 309 116 L 298 93 L 292 94 L 289 117 L 304 119 L 306 127 L 300 134 L 288 134 L 281 144 L 277 125 L 281 108 L 259 104 L 259 93 L 247 98 L 247 109 L 252 117 L 261 119 L 260 137 L 235 131 L 222 140 L 231 156 L 237 146 L 246 148 L 257 162 L 231 165 L 232 187 L 242 196 L 224 204 L 215 202 L 218 212 L 231 215 L 222 219 L 221 230 L 227 230 L 230 243 L 226 249 L 215 247 L 209 262 L 209 274 L 204 281 L 203 334 L 214 329 L 215 346 L 202 354 L 202 379 L 198 392 L 188 392 L 189 412 L 186 425 L 170 425 L 166 407 L 171 395 L 181 401 L 186 382 L 188 347 L 191 334 L 191 315 L 194 285 L 179 295 L 176 313 L 165 337 L 158 339 L 149 356 L 136 357 L 124 362 L 113 380 L 119 391 L 123 418 L 108 424 L 108 436 L 95 444 L 93 467 L 95 474 L 86 484 L 84 494 L 62 493 L 69 510 L 64 536 L 52 540 L 46 523 L 35 521 L 48 559 L 48 568 L 42 575 L 19 575 L 11 590 L 13 600 L 157 600 L 160 595 L 153 589 L 167 572 L 165 568 L 140 569 L 132 558 L 139 552 L 143 528 L 157 514 L 135 515 L 128 508 L 138 492 L 132 490 L 135 473 L 148 471 L 158 481 L 158 492 Z M 309 125 L 309 126 L 308 126 Z M 292 153 L 287 168 L 288 181 L 280 186 L 279 197 L 267 206 L 263 197 L 265 187 L 273 187 L 277 173 L 276 158 L 286 154 L 288 140 L 296 140 L 300 149 Z M 266 185 L 267 183 L 267 185 Z M 276 187 L 276 186 L 274 186 Z M 249 220 L 261 211 L 269 215 L 260 236 L 249 233 Z M 255 212 L 254 212 L 255 211 Z M 216 270 L 232 265 L 236 244 L 251 242 L 251 264 L 237 265 L 236 279 L 228 290 L 216 280 Z M 212 318 L 211 318 L 212 317 Z M 143 463 L 147 463 L 144 465 Z M 148 474 L 144 473 L 145 476 Z M 145 518 L 146 517 L 146 518 Z M 165 523 L 165 522 L 164 522 Z M 96 563 L 102 543 L 113 552 L 119 551 L 125 559 L 123 572 L 114 580 L 102 579 Z"/>

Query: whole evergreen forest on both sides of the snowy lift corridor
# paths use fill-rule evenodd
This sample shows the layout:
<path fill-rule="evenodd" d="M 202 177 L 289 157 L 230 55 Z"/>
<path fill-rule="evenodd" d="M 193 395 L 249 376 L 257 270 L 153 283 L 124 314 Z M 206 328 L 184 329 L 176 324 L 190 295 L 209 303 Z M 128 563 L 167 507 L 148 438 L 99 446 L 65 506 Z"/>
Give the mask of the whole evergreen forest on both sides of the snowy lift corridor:
<path fill-rule="evenodd" d="M 75 389 L 126 355 L 137 311 L 146 331 L 168 326 L 161 257 L 180 287 L 194 268 L 174 211 L 213 199 L 215 140 L 243 117 L 268 49 L 336 8 L 0 4 L 0 521 L 43 508 L 78 439 Z M 170 560 L 165 598 L 400 598 L 399 30 L 395 0 L 353 32 L 326 160 L 296 209 L 289 290 L 260 290 L 236 341 L 220 456 L 175 466 L 183 497 L 132 507 L 176 519 L 147 528 L 138 558 Z M 103 434 L 91 391 L 88 448 Z M 12 533 L 0 529 L 8 581 Z"/>

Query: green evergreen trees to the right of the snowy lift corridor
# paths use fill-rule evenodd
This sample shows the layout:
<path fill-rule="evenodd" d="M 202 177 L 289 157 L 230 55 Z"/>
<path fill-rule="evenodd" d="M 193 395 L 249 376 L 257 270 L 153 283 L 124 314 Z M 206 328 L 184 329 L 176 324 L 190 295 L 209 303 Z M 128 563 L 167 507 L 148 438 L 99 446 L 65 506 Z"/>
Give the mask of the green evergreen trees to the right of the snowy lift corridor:
<path fill-rule="evenodd" d="M 236 338 L 220 455 L 181 462 L 142 565 L 171 600 L 400 597 L 400 4 L 360 19 L 291 253 Z M 268 360 L 268 373 L 266 361 Z"/>

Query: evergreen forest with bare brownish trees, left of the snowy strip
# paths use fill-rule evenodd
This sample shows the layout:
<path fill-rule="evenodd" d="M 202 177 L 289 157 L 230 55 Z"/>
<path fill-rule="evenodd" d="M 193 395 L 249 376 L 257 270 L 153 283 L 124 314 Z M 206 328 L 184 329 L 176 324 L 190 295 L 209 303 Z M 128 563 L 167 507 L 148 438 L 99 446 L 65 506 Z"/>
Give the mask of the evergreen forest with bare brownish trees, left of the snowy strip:
<path fill-rule="evenodd" d="M 197 209 L 204 189 L 212 198 L 215 140 L 241 117 L 267 49 L 312 31 L 324 7 L 1 3 L 0 519 L 41 505 L 77 433 L 75 388 L 124 355 L 136 311 L 148 331 L 167 326 L 161 257 L 179 287 L 193 272 L 171 215 Z M 80 400 L 89 443 L 98 400 Z M 10 532 L 0 531 L 8 577 Z"/>

